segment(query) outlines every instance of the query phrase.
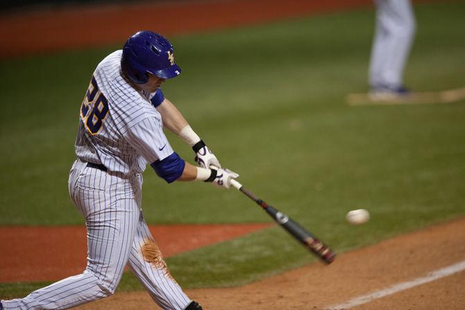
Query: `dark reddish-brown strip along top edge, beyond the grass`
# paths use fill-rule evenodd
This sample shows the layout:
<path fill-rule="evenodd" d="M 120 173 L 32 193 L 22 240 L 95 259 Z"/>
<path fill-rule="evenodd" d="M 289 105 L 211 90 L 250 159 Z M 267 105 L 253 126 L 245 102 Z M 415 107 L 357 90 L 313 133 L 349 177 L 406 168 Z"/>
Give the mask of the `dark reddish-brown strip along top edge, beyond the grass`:
<path fill-rule="evenodd" d="M 0 57 L 121 44 L 139 30 L 164 35 L 260 24 L 371 5 L 371 0 L 149 1 L 0 15 Z"/>

